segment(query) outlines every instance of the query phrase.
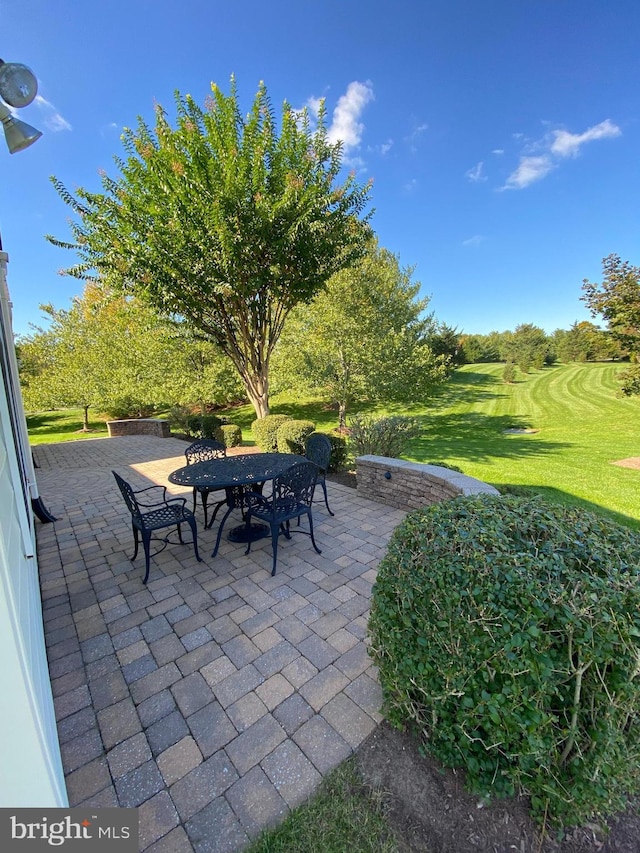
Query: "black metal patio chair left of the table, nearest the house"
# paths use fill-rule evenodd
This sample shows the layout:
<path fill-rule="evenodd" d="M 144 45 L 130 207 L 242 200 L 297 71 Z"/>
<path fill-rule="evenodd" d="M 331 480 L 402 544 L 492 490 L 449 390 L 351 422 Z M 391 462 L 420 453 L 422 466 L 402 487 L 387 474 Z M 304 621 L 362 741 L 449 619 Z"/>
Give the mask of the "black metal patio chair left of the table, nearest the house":
<path fill-rule="evenodd" d="M 135 542 L 135 549 L 131 562 L 138 556 L 138 539 L 142 537 L 142 545 L 144 548 L 145 559 L 145 575 L 142 583 L 149 579 L 149 561 L 152 533 L 154 530 L 161 530 L 165 527 L 176 527 L 178 530 L 178 539 L 180 544 L 185 544 L 182 539 L 181 525 L 186 522 L 191 528 L 193 534 L 193 549 L 198 562 L 202 562 L 202 558 L 198 553 L 198 536 L 196 531 L 196 518 L 191 510 L 187 509 L 185 504 L 186 498 L 172 497 L 167 498 L 166 486 L 148 486 L 146 489 L 138 489 L 134 491 L 130 483 L 127 483 L 116 471 L 111 472 L 116 478 L 118 488 L 122 493 L 122 497 L 131 513 L 131 529 Z M 157 495 L 157 499 L 154 499 Z M 138 535 L 139 534 L 139 535 Z M 160 540 L 164 542 L 160 551 L 169 544 L 169 539 L 165 537 Z M 160 553 L 157 551 L 156 553 Z"/>

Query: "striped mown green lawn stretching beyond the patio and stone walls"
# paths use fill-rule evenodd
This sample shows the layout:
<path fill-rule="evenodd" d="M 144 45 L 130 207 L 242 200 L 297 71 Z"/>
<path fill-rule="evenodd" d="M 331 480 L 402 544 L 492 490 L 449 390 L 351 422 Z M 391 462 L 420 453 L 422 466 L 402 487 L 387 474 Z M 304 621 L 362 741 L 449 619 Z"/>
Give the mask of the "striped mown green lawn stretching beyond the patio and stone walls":
<path fill-rule="evenodd" d="M 616 396 L 620 365 L 556 365 L 518 373 L 513 385 L 502 382 L 503 368 L 466 365 L 428 405 L 376 411 L 410 414 L 421 423 L 422 435 L 407 458 L 456 465 L 499 489 L 543 492 L 640 528 L 640 470 L 611 464 L 640 457 L 640 398 Z M 318 429 L 337 425 L 336 412 L 315 400 L 280 395 L 271 402 L 273 412 L 312 420 Z M 251 443 L 253 408 L 238 406 L 225 414 Z M 78 432 L 79 411 L 32 415 L 27 421 L 33 444 L 106 435 L 104 418 L 97 416 L 91 418 L 95 431 Z M 505 433 L 509 428 L 537 432 Z"/>

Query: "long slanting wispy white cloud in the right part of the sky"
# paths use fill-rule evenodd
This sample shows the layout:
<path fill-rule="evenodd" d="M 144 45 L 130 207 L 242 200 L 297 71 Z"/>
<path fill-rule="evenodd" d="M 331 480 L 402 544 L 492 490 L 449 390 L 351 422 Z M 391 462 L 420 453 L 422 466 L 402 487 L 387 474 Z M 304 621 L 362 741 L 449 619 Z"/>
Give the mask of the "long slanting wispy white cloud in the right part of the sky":
<path fill-rule="evenodd" d="M 509 175 L 503 190 L 522 190 L 530 184 L 546 177 L 557 168 L 559 161 L 567 157 L 577 157 L 580 147 L 596 139 L 612 139 L 622 131 L 609 119 L 601 121 L 584 133 L 569 133 L 567 130 L 553 130 L 541 140 L 525 147 L 517 168 Z M 518 134 L 522 138 L 521 134 Z M 516 134 L 514 134 L 514 138 Z"/>

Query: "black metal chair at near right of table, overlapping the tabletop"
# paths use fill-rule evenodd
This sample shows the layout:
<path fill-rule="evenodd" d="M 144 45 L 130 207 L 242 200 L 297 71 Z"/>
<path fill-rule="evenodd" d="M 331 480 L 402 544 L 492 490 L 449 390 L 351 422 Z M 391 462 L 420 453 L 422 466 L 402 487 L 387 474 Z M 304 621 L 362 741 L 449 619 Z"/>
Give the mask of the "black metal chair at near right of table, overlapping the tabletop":
<path fill-rule="evenodd" d="M 271 546 L 273 549 L 273 568 L 271 574 L 276 573 L 276 562 L 278 559 L 278 538 L 281 533 L 287 539 L 291 539 L 289 522 L 297 518 L 298 522 L 303 515 L 309 519 L 309 535 L 311 542 L 318 554 L 322 551 L 316 544 L 313 535 L 313 516 L 311 504 L 313 492 L 318 476 L 317 466 L 311 462 L 297 462 L 288 468 L 273 481 L 273 489 L 270 495 L 265 496 L 258 492 L 248 491 L 245 494 L 246 522 L 258 518 L 266 522 L 271 529 Z M 307 531 L 299 531 L 306 533 Z M 251 541 L 247 543 L 246 554 L 251 550 Z"/>

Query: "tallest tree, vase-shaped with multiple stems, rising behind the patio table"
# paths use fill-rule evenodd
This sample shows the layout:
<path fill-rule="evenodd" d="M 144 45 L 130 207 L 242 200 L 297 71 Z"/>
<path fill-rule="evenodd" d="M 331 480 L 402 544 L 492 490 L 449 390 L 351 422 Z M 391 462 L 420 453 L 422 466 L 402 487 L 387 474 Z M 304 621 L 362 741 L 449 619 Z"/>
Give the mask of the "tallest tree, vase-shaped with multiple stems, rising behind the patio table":
<path fill-rule="evenodd" d="M 338 182 L 322 105 L 315 128 L 285 102 L 279 125 L 264 84 L 248 115 L 235 81 L 212 84 L 204 109 L 176 93 L 171 127 L 156 108 L 125 130 L 119 175 L 71 194 L 80 263 L 66 272 L 109 283 L 182 318 L 231 359 L 256 414 L 269 411 L 269 362 L 289 312 L 350 266 L 369 233 L 370 185 Z"/>

